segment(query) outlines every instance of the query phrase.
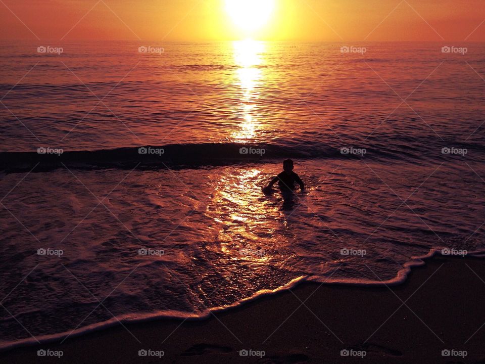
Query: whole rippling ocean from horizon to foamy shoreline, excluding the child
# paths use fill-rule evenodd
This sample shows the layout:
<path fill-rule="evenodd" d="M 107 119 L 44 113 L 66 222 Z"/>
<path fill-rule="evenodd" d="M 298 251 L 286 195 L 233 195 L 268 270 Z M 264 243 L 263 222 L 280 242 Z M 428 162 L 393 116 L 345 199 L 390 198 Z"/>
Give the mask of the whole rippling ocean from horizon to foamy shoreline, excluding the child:
<path fill-rule="evenodd" d="M 0 60 L 2 349 L 485 252 L 482 43 L 2 42 Z M 286 158 L 307 187 L 288 211 L 261 192 Z"/>

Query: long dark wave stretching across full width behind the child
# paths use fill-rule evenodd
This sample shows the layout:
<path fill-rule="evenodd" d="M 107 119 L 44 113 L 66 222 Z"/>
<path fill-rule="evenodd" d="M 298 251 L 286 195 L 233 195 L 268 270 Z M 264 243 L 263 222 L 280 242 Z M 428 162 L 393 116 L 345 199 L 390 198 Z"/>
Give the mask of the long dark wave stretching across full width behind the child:
<path fill-rule="evenodd" d="M 193 143 L 163 146 L 121 147 L 115 149 L 64 151 L 61 148 L 41 147 L 36 152 L 0 152 L 0 171 L 15 173 L 30 171 L 51 171 L 58 168 L 74 169 L 175 169 L 200 168 L 245 163 L 268 163 L 285 158 L 314 159 L 358 159 L 365 156 L 373 159 L 444 159 L 443 145 L 456 145 L 472 151 L 481 160 L 485 147 L 475 143 L 442 143 L 426 149 L 407 145 L 406 141 L 394 141 L 391 146 L 381 143 L 364 144 L 363 147 L 342 147 L 327 145 L 318 141 L 279 141 L 270 143 Z M 363 151 L 364 154 L 362 154 Z M 469 155 L 471 157 L 471 155 Z"/>

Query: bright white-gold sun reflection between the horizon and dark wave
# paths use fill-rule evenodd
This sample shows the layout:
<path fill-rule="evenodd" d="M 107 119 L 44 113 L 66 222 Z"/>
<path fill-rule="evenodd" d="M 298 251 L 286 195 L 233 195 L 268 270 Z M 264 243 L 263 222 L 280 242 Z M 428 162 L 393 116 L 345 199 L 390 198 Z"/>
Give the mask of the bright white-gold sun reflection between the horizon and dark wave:
<path fill-rule="evenodd" d="M 232 138 L 244 142 L 253 140 L 257 130 L 261 128 L 258 118 L 258 86 L 262 82 L 262 72 L 259 68 L 263 64 L 262 54 L 265 51 L 262 41 L 246 39 L 233 42 L 234 61 L 239 84 L 243 90 L 241 98 L 240 116 L 244 120 L 240 123 L 240 130 L 232 133 Z"/>

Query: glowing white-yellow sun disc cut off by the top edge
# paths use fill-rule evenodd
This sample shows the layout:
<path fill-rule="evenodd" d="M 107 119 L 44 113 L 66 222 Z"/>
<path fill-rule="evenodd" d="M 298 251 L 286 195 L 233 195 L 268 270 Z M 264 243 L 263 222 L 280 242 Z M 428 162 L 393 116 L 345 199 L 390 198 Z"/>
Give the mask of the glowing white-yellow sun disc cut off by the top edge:
<path fill-rule="evenodd" d="M 274 10 L 274 0 L 226 0 L 226 11 L 236 27 L 251 32 L 264 26 Z"/>

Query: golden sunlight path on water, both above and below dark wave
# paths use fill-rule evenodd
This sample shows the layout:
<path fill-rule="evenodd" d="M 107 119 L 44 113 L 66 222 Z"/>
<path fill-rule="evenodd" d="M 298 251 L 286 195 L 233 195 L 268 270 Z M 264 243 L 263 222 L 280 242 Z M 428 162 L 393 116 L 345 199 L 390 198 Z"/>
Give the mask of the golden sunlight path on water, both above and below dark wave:
<path fill-rule="evenodd" d="M 260 68 L 264 64 L 266 44 L 252 39 L 238 40 L 232 43 L 234 71 L 238 83 L 239 102 L 235 106 L 238 130 L 231 133 L 236 142 L 251 142 L 262 129 L 259 116 L 261 85 L 264 82 Z M 256 234 L 259 227 L 267 226 L 272 231 L 273 220 L 268 221 L 265 204 L 259 201 L 261 191 L 256 180 L 261 170 L 256 168 L 237 168 L 233 173 L 222 177 L 220 187 L 215 190 L 212 210 L 218 212 L 214 219 L 218 229 L 218 241 L 221 252 L 227 259 L 254 264 L 255 268 L 266 264 L 271 259 L 268 255 L 259 255 L 258 251 L 271 245 L 270 238 Z M 222 225 L 222 226 L 221 226 Z M 237 266 L 235 266 L 236 268 Z"/>

